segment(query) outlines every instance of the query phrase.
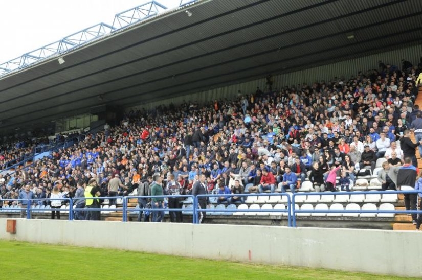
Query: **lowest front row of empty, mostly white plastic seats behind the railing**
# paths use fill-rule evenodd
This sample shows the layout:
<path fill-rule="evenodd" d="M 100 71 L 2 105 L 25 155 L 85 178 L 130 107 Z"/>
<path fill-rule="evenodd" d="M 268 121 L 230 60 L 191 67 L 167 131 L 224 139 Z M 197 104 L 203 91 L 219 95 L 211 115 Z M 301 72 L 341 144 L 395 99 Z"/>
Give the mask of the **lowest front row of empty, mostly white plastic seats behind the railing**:
<path fill-rule="evenodd" d="M 192 205 L 184 205 L 183 209 L 186 209 L 186 211 L 182 211 L 182 214 L 184 215 L 192 215 Z M 210 205 L 209 209 L 216 210 L 213 212 L 208 212 L 208 215 L 235 215 L 235 216 L 287 216 L 287 212 L 254 212 L 259 210 L 278 210 L 278 211 L 285 211 L 286 206 L 284 204 L 276 204 L 274 207 L 271 204 L 264 204 L 260 206 L 259 204 L 252 204 L 248 206 L 247 204 L 240 204 L 238 207 L 236 207 L 235 204 L 230 204 L 226 207 L 224 204 L 218 204 L 217 206 Z M 228 212 L 226 210 L 253 210 L 252 212 Z M 362 205 L 362 208 L 356 204 L 356 203 L 350 203 L 347 204 L 346 207 L 344 207 L 340 203 L 332 204 L 328 207 L 325 203 L 317 204 L 314 208 L 312 204 L 306 203 L 299 207 L 298 204 L 295 204 L 296 210 L 303 210 L 303 211 L 313 211 L 313 210 L 319 210 L 319 211 L 327 211 L 326 213 L 297 213 L 297 216 L 317 216 L 317 217 L 394 217 L 393 213 L 329 213 L 329 211 L 394 211 L 394 205 L 391 203 L 383 203 L 380 205 L 379 208 L 376 207 L 373 203 L 366 203 Z M 190 210 L 190 211 L 188 211 Z M 218 211 L 217 211 L 218 210 Z"/>

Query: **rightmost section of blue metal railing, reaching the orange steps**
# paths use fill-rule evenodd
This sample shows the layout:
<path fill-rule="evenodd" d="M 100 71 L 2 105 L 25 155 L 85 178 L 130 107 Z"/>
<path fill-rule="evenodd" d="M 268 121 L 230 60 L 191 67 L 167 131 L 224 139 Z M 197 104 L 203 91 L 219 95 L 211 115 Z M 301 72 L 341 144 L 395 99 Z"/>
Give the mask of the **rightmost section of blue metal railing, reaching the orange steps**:
<path fill-rule="evenodd" d="M 323 192 L 323 193 L 316 193 L 316 192 L 311 192 L 311 193 L 295 193 L 292 196 L 292 226 L 296 227 L 296 214 L 297 213 L 374 213 L 374 214 L 381 214 L 381 213 L 385 213 L 385 214 L 399 214 L 399 213 L 405 213 L 405 214 L 422 214 L 422 210 L 333 210 L 333 209 L 327 209 L 327 210 L 296 210 L 295 209 L 295 198 L 297 196 L 314 196 L 314 195 L 320 195 L 320 196 L 324 196 L 324 195 L 375 195 L 375 194 L 382 194 L 382 195 L 388 195 L 388 194 L 422 194 L 422 191 L 363 191 L 363 192 L 359 192 L 359 191 L 354 191 L 354 192 L 334 192 L 334 193 L 328 193 L 328 192 Z"/>

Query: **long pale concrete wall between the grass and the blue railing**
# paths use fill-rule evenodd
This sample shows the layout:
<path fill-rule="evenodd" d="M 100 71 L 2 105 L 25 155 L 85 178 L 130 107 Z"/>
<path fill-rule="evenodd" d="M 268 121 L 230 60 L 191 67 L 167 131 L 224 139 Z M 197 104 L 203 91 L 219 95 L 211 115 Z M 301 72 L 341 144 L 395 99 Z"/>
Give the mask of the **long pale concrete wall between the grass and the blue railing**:
<path fill-rule="evenodd" d="M 16 219 L 8 234 L 6 220 L 4 240 L 422 277 L 420 232 Z"/>

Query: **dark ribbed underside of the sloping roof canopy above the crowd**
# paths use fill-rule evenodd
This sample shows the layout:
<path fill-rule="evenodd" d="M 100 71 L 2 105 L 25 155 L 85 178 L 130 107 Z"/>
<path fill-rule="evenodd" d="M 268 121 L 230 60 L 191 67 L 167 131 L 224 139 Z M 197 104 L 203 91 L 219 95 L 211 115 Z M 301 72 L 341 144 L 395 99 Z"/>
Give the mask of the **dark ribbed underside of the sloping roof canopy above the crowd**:
<path fill-rule="evenodd" d="M 0 129 L 100 104 L 127 107 L 186 95 L 420 38 L 422 1 L 199 1 L 87 43 L 65 54 L 64 64 L 47 59 L 1 77 Z"/>

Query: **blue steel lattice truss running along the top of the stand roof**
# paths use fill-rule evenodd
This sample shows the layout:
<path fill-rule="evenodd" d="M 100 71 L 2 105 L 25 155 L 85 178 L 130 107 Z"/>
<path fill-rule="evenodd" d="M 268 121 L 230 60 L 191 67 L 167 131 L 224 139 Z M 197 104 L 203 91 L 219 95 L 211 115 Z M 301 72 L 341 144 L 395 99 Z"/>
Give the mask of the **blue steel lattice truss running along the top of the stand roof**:
<path fill-rule="evenodd" d="M 197 0 L 182 0 L 179 7 L 196 2 Z M 104 35 L 112 34 L 122 28 L 136 24 L 146 18 L 156 16 L 166 10 L 167 7 L 157 1 L 149 1 L 135 8 L 123 11 L 115 15 L 113 25 L 101 22 L 92 27 L 66 36 L 54 43 L 42 46 L 32 52 L 28 52 L 15 59 L 0 64 L 0 77 L 14 71 L 19 71 L 43 59 L 60 56 L 61 54 L 73 50 L 78 46 L 91 42 Z"/>

